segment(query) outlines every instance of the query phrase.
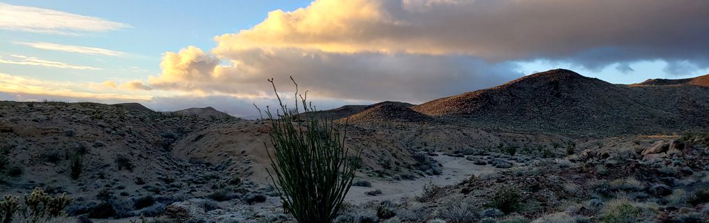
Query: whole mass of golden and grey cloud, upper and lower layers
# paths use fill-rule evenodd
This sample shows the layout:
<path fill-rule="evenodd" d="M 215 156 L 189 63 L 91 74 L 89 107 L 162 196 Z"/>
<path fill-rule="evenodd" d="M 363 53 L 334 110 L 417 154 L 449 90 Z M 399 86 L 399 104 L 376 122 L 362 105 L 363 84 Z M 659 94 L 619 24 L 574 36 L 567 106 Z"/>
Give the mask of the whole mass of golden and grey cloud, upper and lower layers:
<path fill-rule="evenodd" d="M 669 72 L 709 67 L 709 1 L 313 1 L 163 56 L 136 89 L 267 97 L 293 75 L 319 97 L 425 102 L 499 85 L 516 62 L 591 70 L 664 60 Z"/>

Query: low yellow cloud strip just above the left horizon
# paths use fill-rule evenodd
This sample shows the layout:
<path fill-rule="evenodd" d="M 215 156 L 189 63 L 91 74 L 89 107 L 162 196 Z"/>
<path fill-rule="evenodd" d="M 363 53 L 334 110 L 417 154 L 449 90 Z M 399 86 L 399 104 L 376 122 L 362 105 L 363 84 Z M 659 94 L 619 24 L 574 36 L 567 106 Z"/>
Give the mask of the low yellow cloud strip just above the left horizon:
<path fill-rule="evenodd" d="M 0 92 L 9 94 L 49 95 L 52 97 L 72 97 L 80 99 L 117 99 L 129 101 L 149 101 L 149 95 L 125 94 L 106 89 L 111 83 L 77 83 L 38 80 L 0 73 Z M 115 83 L 113 83 L 115 85 Z"/>

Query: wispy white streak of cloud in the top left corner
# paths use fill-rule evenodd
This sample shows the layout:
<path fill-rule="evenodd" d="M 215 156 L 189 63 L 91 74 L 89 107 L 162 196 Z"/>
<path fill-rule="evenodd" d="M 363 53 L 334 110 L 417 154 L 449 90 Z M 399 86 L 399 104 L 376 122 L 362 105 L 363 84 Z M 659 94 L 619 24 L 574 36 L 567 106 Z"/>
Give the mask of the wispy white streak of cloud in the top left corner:
<path fill-rule="evenodd" d="M 33 33 L 80 35 L 84 32 L 115 31 L 131 27 L 103 18 L 5 3 L 0 3 L 0 15 L 1 29 Z"/>

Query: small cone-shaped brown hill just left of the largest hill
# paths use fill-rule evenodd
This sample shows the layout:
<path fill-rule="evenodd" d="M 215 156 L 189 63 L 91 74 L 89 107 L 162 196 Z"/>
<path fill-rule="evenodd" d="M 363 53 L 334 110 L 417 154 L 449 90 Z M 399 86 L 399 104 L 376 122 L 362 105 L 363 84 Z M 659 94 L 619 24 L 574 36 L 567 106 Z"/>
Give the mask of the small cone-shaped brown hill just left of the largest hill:
<path fill-rule="evenodd" d="M 372 123 L 372 122 L 418 122 L 428 121 L 429 116 L 420 114 L 411 109 L 412 104 L 402 102 L 379 102 L 364 107 L 362 112 L 348 116 L 340 121 L 352 123 Z"/>

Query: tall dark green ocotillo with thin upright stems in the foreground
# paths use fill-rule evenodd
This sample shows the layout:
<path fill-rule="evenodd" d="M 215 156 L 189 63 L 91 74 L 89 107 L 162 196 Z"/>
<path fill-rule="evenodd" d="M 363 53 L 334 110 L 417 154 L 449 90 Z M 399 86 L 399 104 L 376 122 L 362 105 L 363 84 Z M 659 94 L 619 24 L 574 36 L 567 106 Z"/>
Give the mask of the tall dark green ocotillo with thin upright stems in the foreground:
<path fill-rule="evenodd" d="M 346 130 L 340 135 L 340 126 L 332 120 L 300 120 L 298 102 L 292 109 L 284 105 L 273 79 L 269 82 L 280 109 L 275 114 L 266 109 L 273 128 L 270 134 L 273 155 L 269 153 L 273 170 L 268 173 L 284 210 L 298 222 L 332 222 L 352 186 L 360 153 L 350 154 L 345 148 Z M 305 97 L 298 95 L 298 84 L 295 80 L 293 83 L 303 112 L 312 112 L 314 109 L 306 106 L 307 92 Z"/>

